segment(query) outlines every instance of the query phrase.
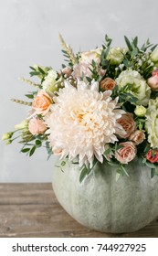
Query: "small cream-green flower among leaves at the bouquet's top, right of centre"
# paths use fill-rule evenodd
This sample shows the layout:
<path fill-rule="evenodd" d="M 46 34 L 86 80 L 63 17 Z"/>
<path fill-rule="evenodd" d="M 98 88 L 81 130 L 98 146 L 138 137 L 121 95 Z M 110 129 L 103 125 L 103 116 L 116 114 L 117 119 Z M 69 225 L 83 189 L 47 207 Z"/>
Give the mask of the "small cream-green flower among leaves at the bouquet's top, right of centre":
<path fill-rule="evenodd" d="M 119 65 L 123 60 L 123 55 L 126 54 L 127 48 L 111 48 L 107 59 L 111 59 L 112 65 Z"/>

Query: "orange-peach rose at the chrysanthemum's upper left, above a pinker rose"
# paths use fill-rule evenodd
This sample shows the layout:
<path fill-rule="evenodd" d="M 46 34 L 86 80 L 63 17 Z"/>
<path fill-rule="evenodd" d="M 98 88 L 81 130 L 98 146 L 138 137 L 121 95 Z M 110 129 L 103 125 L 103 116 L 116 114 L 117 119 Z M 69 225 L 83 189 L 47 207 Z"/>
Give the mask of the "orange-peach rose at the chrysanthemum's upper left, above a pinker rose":
<path fill-rule="evenodd" d="M 45 115 L 50 108 L 52 99 L 46 91 L 39 91 L 35 97 L 32 107 L 36 110 L 37 114 Z"/>

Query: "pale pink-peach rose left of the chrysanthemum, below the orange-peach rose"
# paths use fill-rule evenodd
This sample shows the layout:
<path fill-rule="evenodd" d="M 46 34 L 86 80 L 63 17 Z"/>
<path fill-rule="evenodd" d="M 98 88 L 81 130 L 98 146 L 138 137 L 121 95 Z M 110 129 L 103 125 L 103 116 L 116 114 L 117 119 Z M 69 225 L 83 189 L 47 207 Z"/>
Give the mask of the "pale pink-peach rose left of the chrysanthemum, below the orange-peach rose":
<path fill-rule="evenodd" d="M 38 118 L 32 118 L 28 123 L 28 129 L 30 133 L 38 135 L 44 133 L 47 129 L 47 126 L 43 123 L 42 120 Z"/>

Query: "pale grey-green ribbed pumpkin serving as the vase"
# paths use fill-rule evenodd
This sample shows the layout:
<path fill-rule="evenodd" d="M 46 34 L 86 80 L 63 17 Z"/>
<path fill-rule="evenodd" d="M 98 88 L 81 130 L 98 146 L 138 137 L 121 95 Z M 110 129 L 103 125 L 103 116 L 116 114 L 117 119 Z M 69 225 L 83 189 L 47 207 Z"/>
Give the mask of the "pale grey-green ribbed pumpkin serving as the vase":
<path fill-rule="evenodd" d="M 53 189 L 59 204 L 80 224 L 102 232 L 142 229 L 158 216 L 158 176 L 135 159 L 129 176 L 116 181 L 116 170 L 107 163 L 94 166 L 79 183 L 79 165 L 67 163 L 53 171 Z"/>

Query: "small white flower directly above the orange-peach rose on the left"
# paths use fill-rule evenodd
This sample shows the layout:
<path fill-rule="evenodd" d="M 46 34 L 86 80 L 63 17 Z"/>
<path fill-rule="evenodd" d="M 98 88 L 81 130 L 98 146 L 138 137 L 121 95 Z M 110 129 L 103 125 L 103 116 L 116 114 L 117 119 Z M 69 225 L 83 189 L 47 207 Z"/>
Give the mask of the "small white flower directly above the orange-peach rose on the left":
<path fill-rule="evenodd" d="M 56 88 L 56 79 L 58 78 L 58 73 L 54 69 L 50 69 L 47 72 L 47 77 L 45 77 L 45 80 L 42 82 L 42 87 L 44 91 L 58 91 L 58 88 Z"/>

